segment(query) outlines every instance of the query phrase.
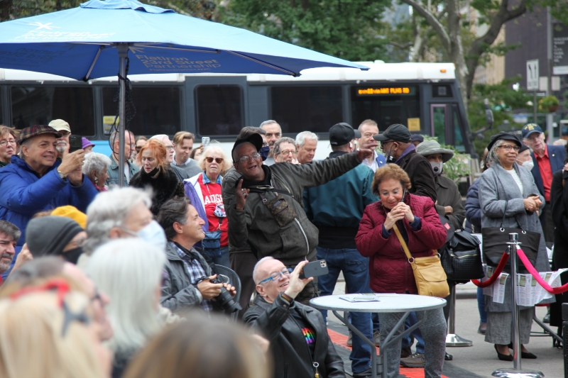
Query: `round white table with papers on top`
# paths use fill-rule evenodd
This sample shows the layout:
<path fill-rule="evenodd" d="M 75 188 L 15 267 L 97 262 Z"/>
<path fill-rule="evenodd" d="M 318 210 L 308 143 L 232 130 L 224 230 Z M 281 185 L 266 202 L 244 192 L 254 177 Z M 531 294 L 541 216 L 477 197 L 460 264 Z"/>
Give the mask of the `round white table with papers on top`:
<path fill-rule="evenodd" d="M 435 308 L 442 308 L 446 306 L 446 300 L 442 298 L 437 298 L 435 296 L 422 296 L 416 294 L 386 294 L 381 296 L 378 294 L 379 301 L 372 302 L 349 302 L 341 299 L 341 296 L 361 296 L 361 294 L 342 294 L 342 295 L 329 295 L 329 296 L 319 296 L 310 300 L 310 305 L 314 308 L 320 310 L 330 310 L 334 315 L 342 321 L 352 332 L 358 335 L 361 340 L 367 343 L 371 347 L 371 377 L 376 378 L 378 374 L 381 377 L 386 377 L 383 374 L 386 365 L 386 350 L 397 343 L 398 340 L 408 335 L 416 328 L 422 326 L 426 321 L 427 313 L 424 314 L 422 321 L 419 321 L 414 326 L 408 328 L 400 335 L 393 338 L 393 335 L 400 326 L 403 326 L 405 319 L 412 311 L 425 311 L 434 310 Z M 372 340 L 368 340 L 357 328 L 355 328 L 346 318 L 339 315 L 337 311 L 349 311 L 349 312 L 371 312 L 371 313 L 395 313 L 403 312 L 404 315 L 396 326 L 391 330 L 384 342 L 381 343 L 380 355 L 378 355 L 379 362 L 377 362 L 377 350 L 376 346 Z"/>

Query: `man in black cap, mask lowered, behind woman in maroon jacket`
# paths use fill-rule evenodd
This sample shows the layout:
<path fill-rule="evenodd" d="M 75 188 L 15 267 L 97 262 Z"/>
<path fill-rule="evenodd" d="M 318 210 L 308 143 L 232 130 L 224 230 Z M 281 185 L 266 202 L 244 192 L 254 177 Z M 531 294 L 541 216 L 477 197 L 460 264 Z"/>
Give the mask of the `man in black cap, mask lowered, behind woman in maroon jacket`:
<path fill-rule="evenodd" d="M 387 164 L 394 163 L 408 174 L 412 184 L 410 193 L 430 197 L 436 202 L 436 184 L 432 167 L 425 157 L 416 153 L 408 128 L 395 123 L 388 126 L 384 133 L 373 135 L 373 138 L 381 143 Z"/>

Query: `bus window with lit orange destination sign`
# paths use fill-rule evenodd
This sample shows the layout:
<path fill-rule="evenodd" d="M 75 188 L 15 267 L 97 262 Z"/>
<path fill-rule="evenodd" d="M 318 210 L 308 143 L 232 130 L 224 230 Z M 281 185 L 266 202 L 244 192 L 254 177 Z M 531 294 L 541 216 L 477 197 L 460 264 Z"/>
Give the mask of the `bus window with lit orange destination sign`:
<path fill-rule="evenodd" d="M 393 123 L 408 127 L 409 118 L 420 118 L 418 87 L 381 84 L 351 87 L 351 117 L 354 128 L 362 121 L 372 119 L 381 133 Z"/>

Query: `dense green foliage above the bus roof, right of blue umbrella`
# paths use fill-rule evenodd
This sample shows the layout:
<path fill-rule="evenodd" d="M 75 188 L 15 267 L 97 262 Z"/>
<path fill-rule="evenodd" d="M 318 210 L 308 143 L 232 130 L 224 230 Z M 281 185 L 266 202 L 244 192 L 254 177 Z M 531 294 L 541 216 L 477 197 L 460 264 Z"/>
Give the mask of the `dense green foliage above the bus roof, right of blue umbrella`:
<path fill-rule="evenodd" d="M 231 0 L 219 21 L 346 60 L 384 57 L 387 0 Z"/>

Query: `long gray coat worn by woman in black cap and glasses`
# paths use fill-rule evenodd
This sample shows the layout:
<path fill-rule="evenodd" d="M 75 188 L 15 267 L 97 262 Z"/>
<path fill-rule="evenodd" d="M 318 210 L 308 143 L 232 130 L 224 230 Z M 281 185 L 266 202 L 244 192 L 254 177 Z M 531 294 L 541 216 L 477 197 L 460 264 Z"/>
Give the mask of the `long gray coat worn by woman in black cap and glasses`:
<path fill-rule="evenodd" d="M 501 227 L 503 220 L 503 208 L 508 201 L 505 211 L 505 221 L 503 227 L 523 228 L 523 230 L 533 231 L 542 235 L 542 226 L 537 213 L 527 213 L 523 200 L 529 194 L 539 193 L 535 184 L 535 179 L 528 169 L 520 167 L 517 163 L 513 164 L 513 169 L 518 173 L 520 181 L 523 183 L 523 193 L 520 193 L 513 176 L 511 176 L 501 165 L 496 162 L 490 169 L 487 169 L 479 178 L 479 203 L 481 204 L 481 227 Z M 545 206 L 545 198 L 539 194 L 542 206 Z M 549 272 L 550 264 L 546 252 L 545 236 L 540 238 L 537 262 L 535 268 L 538 272 Z M 550 303 L 554 299 L 547 299 L 542 303 Z M 521 310 L 528 308 L 519 306 Z M 486 309 L 493 312 L 510 311 L 510 281 L 505 287 L 505 299 L 503 304 L 493 303 L 493 297 L 486 297 Z"/>

